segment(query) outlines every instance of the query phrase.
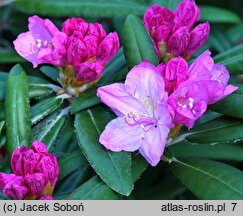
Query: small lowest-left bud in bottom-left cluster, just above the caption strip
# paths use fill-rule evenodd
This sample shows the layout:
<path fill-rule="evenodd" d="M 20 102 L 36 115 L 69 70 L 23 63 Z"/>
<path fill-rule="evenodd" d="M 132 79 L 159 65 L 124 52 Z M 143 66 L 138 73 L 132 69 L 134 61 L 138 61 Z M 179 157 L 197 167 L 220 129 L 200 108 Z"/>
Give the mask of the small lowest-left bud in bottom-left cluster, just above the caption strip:
<path fill-rule="evenodd" d="M 16 176 L 3 188 L 3 195 L 15 200 L 23 200 L 28 193 L 29 189 L 22 176 Z"/>

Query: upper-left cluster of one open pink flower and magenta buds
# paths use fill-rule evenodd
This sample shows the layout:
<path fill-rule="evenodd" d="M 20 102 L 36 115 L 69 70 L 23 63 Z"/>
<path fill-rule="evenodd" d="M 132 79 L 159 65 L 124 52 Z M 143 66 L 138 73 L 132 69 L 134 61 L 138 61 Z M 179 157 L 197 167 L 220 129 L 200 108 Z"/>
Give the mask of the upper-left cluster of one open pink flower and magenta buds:
<path fill-rule="evenodd" d="M 119 50 L 116 32 L 106 35 L 99 23 L 67 19 L 59 31 L 49 19 L 29 18 L 29 31 L 14 41 L 16 51 L 34 67 L 48 63 L 74 67 L 76 78 L 89 83 L 100 78 L 105 65 Z"/>

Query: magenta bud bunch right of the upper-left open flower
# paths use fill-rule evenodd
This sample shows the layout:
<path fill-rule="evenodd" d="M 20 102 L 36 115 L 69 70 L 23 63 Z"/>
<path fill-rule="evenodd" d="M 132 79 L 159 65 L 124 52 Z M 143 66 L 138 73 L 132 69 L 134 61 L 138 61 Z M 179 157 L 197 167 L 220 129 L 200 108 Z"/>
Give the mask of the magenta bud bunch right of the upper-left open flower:
<path fill-rule="evenodd" d="M 67 19 L 62 31 L 68 36 L 67 64 L 74 66 L 77 79 L 85 83 L 97 80 L 119 50 L 117 33 L 106 35 L 100 24 L 80 18 Z"/>

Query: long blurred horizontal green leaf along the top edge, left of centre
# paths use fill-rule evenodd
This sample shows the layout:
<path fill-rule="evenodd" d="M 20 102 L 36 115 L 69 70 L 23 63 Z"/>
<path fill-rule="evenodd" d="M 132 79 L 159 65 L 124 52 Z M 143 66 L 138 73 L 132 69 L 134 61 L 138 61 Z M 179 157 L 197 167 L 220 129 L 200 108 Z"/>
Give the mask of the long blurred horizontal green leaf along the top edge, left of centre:
<path fill-rule="evenodd" d="M 131 0 L 21 0 L 15 7 L 29 14 L 57 17 L 114 17 L 143 15 L 146 5 Z"/>

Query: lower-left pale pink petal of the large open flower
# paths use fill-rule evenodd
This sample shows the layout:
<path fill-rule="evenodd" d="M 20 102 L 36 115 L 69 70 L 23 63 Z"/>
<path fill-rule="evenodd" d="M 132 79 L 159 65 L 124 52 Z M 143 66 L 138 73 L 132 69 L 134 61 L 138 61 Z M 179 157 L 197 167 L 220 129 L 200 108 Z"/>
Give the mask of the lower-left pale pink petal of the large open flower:
<path fill-rule="evenodd" d="M 118 117 L 106 125 L 99 141 L 115 152 L 135 151 L 141 145 L 143 133 L 140 125 L 129 126 L 124 117 Z"/>

